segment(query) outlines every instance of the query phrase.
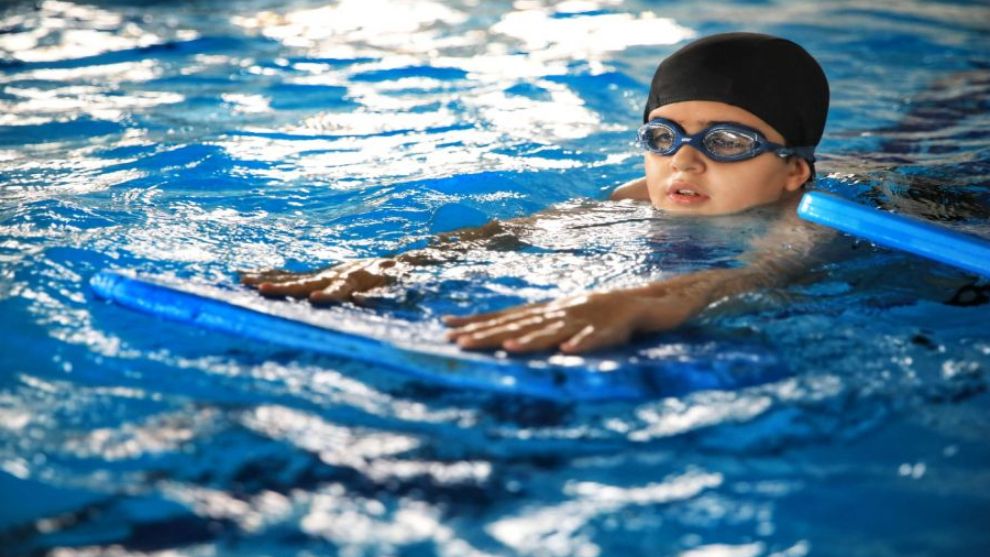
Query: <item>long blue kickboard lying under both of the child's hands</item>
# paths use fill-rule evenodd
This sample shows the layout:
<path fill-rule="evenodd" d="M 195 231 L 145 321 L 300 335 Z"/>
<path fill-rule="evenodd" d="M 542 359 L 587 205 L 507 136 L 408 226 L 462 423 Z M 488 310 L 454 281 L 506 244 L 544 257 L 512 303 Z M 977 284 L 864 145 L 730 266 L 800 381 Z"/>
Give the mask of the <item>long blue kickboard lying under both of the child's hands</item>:
<path fill-rule="evenodd" d="M 765 347 L 658 335 L 588 356 L 514 356 L 464 351 L 439 322 L 376 315 L 349 304 L 314 308 L 245 288 L 103 271 L 100 298 L 173 321 L 304 352 L 385 367 L 432 384 L 559 401 L 640 400 L 707 389 L 738 389 L 789 375 Z"/>

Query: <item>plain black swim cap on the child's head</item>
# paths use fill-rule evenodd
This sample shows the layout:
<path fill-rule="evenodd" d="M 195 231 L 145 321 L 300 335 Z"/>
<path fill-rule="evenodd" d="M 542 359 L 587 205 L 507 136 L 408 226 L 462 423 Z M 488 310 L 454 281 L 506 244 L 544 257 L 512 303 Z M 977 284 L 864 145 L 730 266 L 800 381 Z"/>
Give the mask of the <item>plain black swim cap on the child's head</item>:
<path fill-rule="evenodd" d="M 818 145 L 828 115 L 828 80 L 797 44 L 757 33 L 694 41 L 660 63 L 643 122 L 658 106 L 718 101 L 759 116 L 791 147 Z"/>

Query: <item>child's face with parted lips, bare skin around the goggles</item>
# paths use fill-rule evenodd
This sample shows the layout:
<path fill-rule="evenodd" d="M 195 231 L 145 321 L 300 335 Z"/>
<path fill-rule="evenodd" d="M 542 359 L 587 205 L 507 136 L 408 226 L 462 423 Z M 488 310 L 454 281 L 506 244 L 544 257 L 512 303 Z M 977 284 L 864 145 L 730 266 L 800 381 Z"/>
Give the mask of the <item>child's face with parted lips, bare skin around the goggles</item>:
<path fill-rule="evenodd" d="M 755 114 L 720 102 L 672 103 L 651 112 L 653 118 L 673 120 L 688 134 L 714 122 L 735 122 L 759 130 L 772 142 L 784 143 L 777 130 Z M 739 162 L 715 162 L 690 145 L 670 156 L 646 153 L 650 202 L 675 213 L 724 215 L 773 203 L 794 195 L 810 174 L 803 159 L 782 159 L 773 153 Z"/>

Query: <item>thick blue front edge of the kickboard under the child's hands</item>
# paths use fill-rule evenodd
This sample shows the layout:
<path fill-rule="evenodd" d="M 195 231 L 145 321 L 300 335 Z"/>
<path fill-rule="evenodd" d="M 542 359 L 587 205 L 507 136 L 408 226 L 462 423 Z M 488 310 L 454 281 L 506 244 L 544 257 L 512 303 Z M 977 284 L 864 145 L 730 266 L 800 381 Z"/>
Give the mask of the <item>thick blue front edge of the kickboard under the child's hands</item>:
<path fill-rule="evenodd" d="M 294 349 L 371 363 L 450 387 L 523 394 L 563 401 L 639 400 L 704 389 L 740 388 L 788 374 L 772 358 L 740 369 L 738 361 L 627 360 L 602 371 L 602 360 L 552 366 L 539 359 L 464 352 L 453 346 L 413 347 L 344 330 L 328 329 L 231 303 L 222 295 L 130 272 L 101 271 L 90 279 L 100 298 L 187 325 Z M 731 347 L 727 347 L 731 351 Z M 760 356 L 767 358 L 769 356 Z M 613 362 L 615 360 L 612 360 Z"/>

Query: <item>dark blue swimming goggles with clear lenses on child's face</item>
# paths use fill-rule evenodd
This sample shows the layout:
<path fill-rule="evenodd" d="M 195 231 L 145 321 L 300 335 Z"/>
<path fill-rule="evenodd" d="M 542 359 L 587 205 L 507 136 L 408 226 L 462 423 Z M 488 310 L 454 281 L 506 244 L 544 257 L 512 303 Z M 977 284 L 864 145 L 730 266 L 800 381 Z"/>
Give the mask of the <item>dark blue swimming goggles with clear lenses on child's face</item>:
<path fill-rule="evenodd" d="M 701 151 L 716 162 L 749 160 L 766 152 L 780 158 L 797 155 L 815 162 L 814 147 L 785 147 L 769 141 L 749 126 L 731 122 L 713 124 L 694 135 L 688 135 L 680 125 L 666 118 L 654 118 L 639 128 L 639 144 L 658 155 L 670 156 L 685 145 Z"/>

